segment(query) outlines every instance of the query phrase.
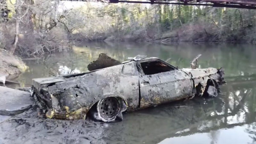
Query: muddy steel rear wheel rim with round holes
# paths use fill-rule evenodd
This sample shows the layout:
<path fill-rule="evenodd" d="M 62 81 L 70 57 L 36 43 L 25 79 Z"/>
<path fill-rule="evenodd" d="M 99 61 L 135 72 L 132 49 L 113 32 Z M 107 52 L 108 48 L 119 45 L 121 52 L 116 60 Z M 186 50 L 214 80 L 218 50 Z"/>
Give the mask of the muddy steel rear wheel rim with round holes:
<path fill-rule="evenodd" d="M 120 108 L 120 101 L 116 97 L 107 97 L 99 101 L 97 109 L 103 121 L 111 121 L 119 114 Z"/>

